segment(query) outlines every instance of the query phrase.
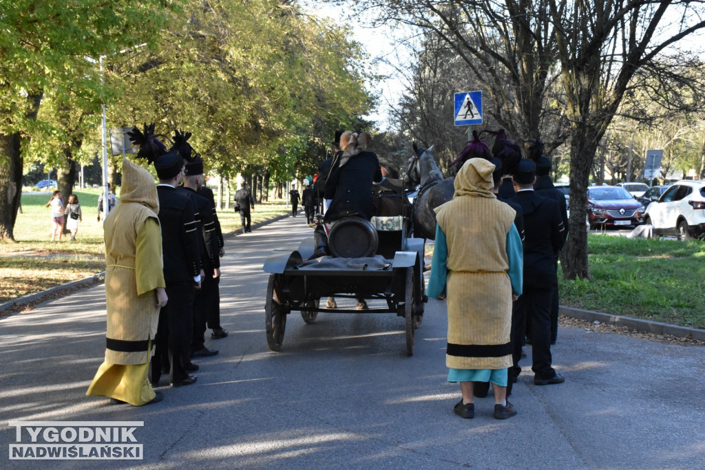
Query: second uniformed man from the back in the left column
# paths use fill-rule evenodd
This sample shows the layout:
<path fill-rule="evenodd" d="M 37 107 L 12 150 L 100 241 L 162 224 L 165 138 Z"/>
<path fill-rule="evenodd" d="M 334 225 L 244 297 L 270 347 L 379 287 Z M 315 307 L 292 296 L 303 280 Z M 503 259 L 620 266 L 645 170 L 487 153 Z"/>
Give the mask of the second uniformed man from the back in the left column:
<path fill-rule="evenodd" d="M 203 180 L 203 161 L 200 157 L 192 158 L 186 163 L 184 185 L 179 188 L 192 199 L 197 207 L 196 220 L 199 222 L 199 247 L 203 266 L 201 288 L 196 292 L 193 303 L 193 335 L 191 340 L 191 357 L 210 357 L 218 354 L 205 346 L 204 333 L 209 308 L 215 295 L 216 279 L 220 277 L 220 257 L 215 222 L 211 203 L 198 194 Z"/>

